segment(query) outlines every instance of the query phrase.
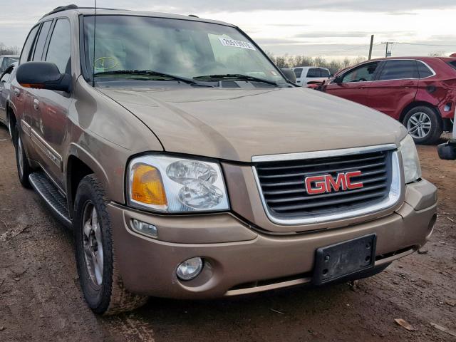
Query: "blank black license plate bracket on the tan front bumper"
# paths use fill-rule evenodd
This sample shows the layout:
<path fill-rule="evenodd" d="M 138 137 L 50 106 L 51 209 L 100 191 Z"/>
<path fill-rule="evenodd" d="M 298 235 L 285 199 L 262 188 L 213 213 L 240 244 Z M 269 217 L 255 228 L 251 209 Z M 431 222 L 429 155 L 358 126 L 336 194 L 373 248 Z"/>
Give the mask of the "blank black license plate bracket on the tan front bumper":
<path fill-rule="evenodd" d="M 375 265 L 376 234 L 357 237 L 316 250 L 313 283 L 322 285 L 372 269 Z"/>

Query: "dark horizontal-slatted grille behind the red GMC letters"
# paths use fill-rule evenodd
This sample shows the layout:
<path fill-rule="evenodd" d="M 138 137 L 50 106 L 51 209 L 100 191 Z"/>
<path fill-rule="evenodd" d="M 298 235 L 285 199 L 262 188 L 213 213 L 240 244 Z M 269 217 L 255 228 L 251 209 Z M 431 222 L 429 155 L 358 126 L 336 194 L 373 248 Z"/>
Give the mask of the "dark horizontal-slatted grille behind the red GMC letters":
<path fill-rule="evenodd" d="M 283 220 L 315 218 L 334 216 L 341 212 L 349 213 L 356 209 L 373 207 L 375 204 L 386 205 L 386 202 L 390 206 L 393 156 L 397 159 L 397 152 L 380 150 L 308 160 L 258 162 L 254 170 L 270 216 Z M 338 174 L 354 171 L 361 171 L 361 176 L 353 177 L 352 181 L 362 182 L 362 188 L 333 190 L 318 195 L 309 195 L 306 192 L 306 177 L 331 175 L 336 180 Z M 396 172 L 398 173 L 398 170 Z M 395 177 L 398 178 L 399 175 Z M 400 195 L 398 180 L 395 180 L 394 187 L 393 197 L 397 197 L 397 202 Z M 383 207 L 385 206 L 378 209 Z"/>

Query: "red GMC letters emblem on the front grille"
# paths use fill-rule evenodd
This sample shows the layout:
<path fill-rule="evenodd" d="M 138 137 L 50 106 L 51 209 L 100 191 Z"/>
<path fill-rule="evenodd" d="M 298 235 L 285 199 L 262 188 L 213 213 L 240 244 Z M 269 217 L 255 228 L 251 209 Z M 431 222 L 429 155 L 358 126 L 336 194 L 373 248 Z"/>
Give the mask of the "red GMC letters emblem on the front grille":
<path fill-rule="evenodd" d="M 363 187 L 362 182 L 352 182 L 351 178 L 361 176 L 361 171 L 338 173 L 336 179 L 331 175 L 306 177 L 306 192 L 309 195 L 326 192 L 354 190 Z"/>

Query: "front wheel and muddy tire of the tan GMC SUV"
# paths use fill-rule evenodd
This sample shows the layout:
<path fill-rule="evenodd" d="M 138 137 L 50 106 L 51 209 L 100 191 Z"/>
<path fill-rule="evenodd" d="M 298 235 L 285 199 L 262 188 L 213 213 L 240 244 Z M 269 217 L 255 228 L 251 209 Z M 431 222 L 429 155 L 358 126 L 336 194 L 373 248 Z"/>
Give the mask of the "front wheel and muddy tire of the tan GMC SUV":
<path fill-rule="evenodd" d="M 131 294 L 118 272 L 103 188 L 94 175 L 78 186 L 74 209 L 76 263 L 84 298 L 96 314 L 136 309 L 147 296 Z"/>

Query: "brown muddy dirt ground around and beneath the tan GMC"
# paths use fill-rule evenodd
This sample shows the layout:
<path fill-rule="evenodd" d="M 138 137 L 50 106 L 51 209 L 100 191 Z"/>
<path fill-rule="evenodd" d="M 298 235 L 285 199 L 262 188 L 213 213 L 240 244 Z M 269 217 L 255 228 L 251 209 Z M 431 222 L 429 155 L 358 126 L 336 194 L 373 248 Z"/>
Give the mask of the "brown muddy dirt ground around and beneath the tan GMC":
<path fill-rule="evenodd" d="M 71 232 L 17 180 L 14 149 L 0 126 L 0 341 L 456 341 L 456 162 L 420 147 L 423 174 L 439 187 L 440 217 L 426 254 L 323 289 L 237 299 L 150 299 L 100 318 L 79 291 Z M 405 330 L 395 318 L 408 321 Z"/>

